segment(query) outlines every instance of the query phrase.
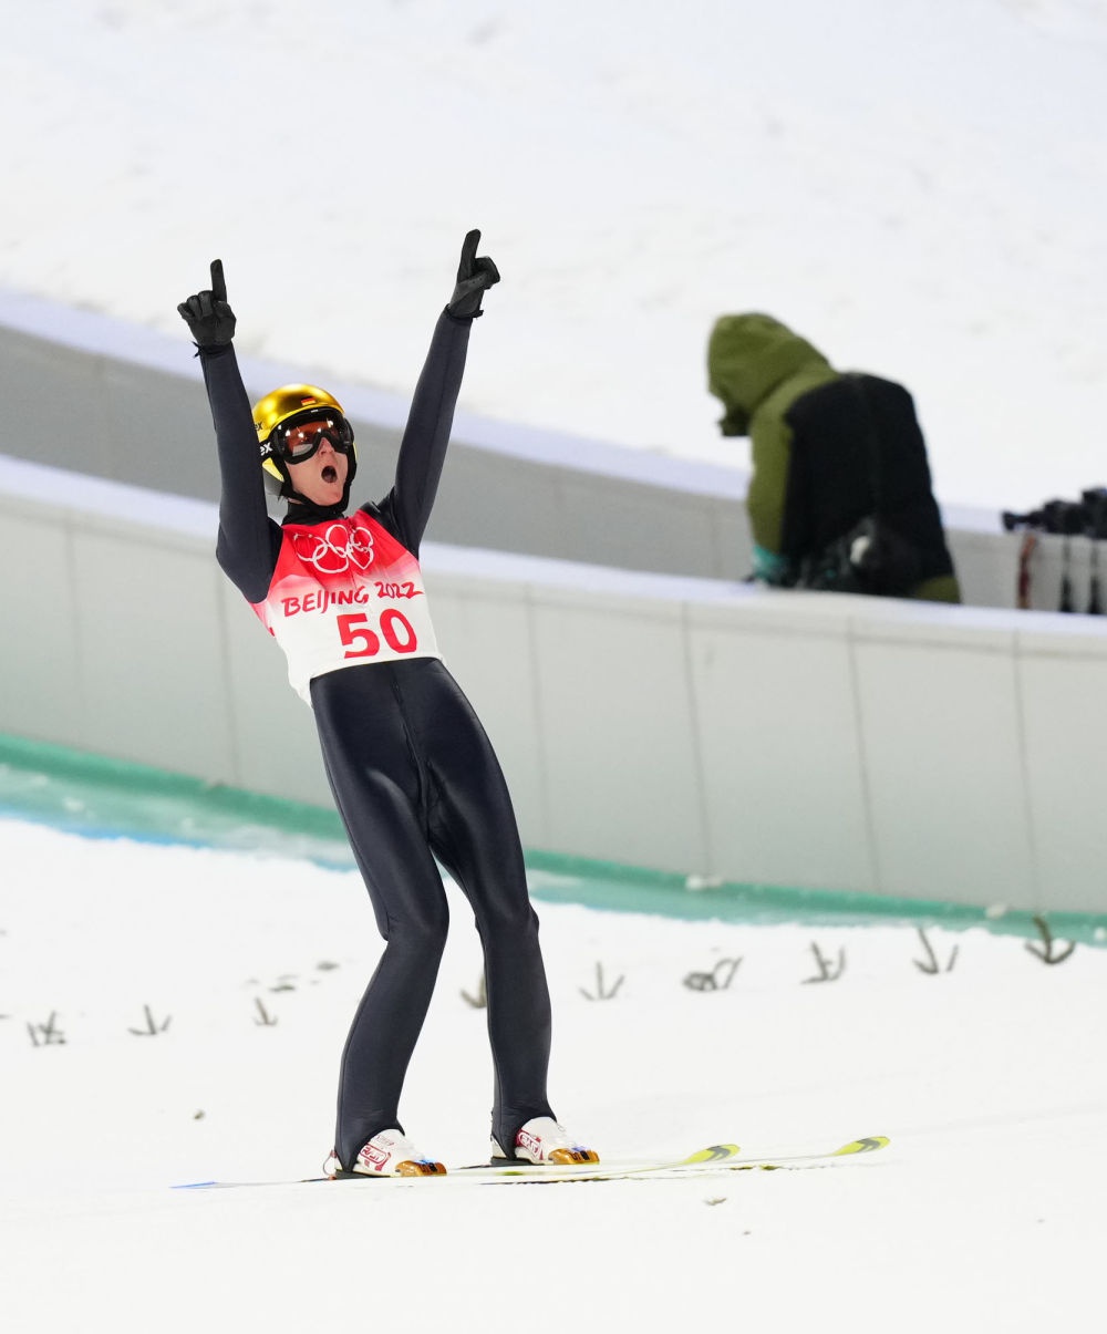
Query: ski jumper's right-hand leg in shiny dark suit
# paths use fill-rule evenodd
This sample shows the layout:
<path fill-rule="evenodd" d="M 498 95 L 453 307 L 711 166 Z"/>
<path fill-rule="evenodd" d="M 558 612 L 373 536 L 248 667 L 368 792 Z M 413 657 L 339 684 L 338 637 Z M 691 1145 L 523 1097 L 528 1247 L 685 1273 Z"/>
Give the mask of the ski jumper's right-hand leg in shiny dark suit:
<path fill-rule="evenodd" d="M 432 664 L 417 732 L 431 774 L 432 847 L 472 906 L 484 948 L 496 1075 L 492 1133 L 508 1153 L 519 1127 L 552 1117 L 551 1011 L 539 920 L 527 892 L 511 795 L 492 746 L 456 682 Z M 405 687 L 407 695 L 407 687 Z"/>

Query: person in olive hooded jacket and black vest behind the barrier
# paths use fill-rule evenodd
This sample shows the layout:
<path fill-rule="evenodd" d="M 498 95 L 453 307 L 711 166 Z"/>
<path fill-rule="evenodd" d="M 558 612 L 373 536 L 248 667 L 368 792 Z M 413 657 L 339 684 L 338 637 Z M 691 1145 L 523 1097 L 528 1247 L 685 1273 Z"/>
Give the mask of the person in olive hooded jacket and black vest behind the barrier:
<path fill-rule="evenodd" d="M 756 580 L 960 602 L 907 390 L 758 313 L 716 320 L 707 371 L 722 434 L 751 442 Z"/>

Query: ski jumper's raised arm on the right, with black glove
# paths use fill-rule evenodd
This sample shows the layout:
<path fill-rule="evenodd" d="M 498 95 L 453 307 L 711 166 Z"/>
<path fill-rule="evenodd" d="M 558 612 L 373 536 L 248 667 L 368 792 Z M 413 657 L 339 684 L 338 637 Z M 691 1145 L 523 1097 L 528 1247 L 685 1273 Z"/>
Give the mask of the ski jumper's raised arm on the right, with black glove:
<path fill-rule="evenodd" d="M 400 540 L 416 555 L 445 462 L 453 408 L 465 370 L 469 327 L 481 313 L 484 292 L 500 280 L 492 260 L 487 256 L 477 257 L 479 244 L 480 232 L 472 231 L 461 245 L 457 284 L 435 325 L 431 350 L 415 387 L 400 443 L 396 483 L 381 506 L 392 519 Z"/>

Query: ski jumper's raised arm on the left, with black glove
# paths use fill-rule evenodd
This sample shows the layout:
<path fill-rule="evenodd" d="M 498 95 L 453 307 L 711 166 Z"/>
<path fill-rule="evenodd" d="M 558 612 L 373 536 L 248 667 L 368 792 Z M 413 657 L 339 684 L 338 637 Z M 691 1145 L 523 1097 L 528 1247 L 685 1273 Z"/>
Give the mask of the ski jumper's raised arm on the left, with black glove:
<path fill-rule="evenodd" d="M 280 550 L 280 528 L 265 508 L 253 414 L 232 344 L 235 312 L 227 304 L 223 261 L 213 260 L 211 289 L 177 307 L 196 343 L 219 450 L 219 564 L 248 602 L 261 602 Z"/>

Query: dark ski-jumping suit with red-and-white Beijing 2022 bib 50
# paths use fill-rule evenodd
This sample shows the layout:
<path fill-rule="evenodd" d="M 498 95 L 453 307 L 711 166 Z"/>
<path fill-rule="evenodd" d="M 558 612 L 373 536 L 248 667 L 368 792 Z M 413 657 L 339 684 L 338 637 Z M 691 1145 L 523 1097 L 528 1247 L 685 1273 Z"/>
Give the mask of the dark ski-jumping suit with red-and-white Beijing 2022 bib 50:
<path fill-rule="evenodd" d="M 492 1134 L 511 1146 L 524 1122 L 554 1115 L 549 992 L 515 812 L 492 746 L 439 656 L 417 559 L 471 323 L 437 320 L 388 495 L 348 518 L 293 504 L 280 526 L 265 508 L 233 348 L 200 351 L 221 474 L 217 559 L 313 710 L 385 940 L 341 1057 L 335 1147 L 344 1167 L 379 1131 L 403 1130 L 400 1091 L 448 926 L 435 859 L 468 899 L 484 950 Z"/>

